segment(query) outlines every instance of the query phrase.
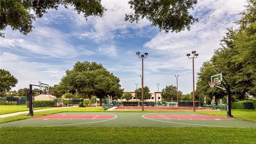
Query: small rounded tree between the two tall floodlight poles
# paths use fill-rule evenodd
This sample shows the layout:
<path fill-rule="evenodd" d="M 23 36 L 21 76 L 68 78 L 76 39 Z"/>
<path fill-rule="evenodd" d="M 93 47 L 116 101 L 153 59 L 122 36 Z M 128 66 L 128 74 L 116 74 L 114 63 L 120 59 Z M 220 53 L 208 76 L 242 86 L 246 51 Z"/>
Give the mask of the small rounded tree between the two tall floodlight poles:
<path fill-rule="evenodd" d="M 177 100 L 177 87 L 173 85 L 166 86 L 162 89 L 161 96 L 165 100 Z M 182 96 L 182 91 L 179 90 L 178 97 L 180 96 Z"/>

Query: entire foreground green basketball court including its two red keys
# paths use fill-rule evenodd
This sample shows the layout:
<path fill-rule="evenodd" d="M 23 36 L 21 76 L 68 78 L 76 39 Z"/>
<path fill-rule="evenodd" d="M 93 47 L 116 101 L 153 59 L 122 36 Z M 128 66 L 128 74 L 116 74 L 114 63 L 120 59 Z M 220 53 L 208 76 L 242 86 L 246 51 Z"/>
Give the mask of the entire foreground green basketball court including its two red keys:
<path fill-rule="evenodd" d="M 256 127 L 255 122 L 192 112 L 62 112 L 2 123 L 22 126 L 160 126 L 160 127 Z"/>

